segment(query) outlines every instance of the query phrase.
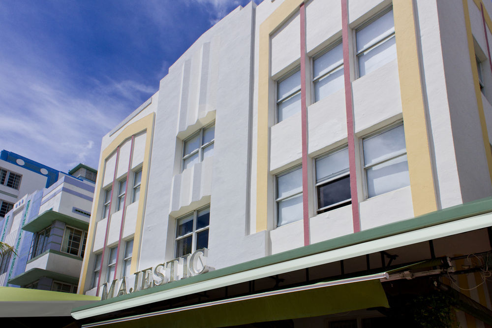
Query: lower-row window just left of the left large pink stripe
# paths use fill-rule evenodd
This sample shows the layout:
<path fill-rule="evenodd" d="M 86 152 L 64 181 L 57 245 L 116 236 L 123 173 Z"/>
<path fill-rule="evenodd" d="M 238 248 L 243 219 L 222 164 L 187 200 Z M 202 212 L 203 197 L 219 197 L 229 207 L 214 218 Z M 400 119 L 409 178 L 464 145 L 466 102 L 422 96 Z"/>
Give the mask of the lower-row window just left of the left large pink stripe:
<path fill-rule="evenodd" d="M 277 227 L 303 218 L 301 167 L 277 175 Z"/>

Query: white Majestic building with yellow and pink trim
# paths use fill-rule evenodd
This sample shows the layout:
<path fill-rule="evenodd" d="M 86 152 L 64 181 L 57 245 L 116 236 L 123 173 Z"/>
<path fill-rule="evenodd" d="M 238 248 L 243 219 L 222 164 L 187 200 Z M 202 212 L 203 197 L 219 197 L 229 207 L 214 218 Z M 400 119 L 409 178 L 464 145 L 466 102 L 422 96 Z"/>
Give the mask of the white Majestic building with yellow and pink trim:
<path fill-rule="evenodd" d="M 394 327 L 439 301 L 445 320 L 490 327 L 491 12 L 232 11 L 104 136 L 79 281 L 102 300 L 72 316 Z"/>

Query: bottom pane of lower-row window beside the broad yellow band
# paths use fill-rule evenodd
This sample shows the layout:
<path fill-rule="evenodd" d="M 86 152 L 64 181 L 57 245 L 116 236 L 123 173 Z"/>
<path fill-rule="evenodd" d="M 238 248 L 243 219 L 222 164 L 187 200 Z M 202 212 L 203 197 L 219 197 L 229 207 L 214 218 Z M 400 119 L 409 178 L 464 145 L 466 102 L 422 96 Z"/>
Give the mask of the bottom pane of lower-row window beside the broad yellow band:
<path fill-rule="evenodd" d="M 367 169 L 367 180 L 369 197 L 409 186 L 406 154 Z"/>

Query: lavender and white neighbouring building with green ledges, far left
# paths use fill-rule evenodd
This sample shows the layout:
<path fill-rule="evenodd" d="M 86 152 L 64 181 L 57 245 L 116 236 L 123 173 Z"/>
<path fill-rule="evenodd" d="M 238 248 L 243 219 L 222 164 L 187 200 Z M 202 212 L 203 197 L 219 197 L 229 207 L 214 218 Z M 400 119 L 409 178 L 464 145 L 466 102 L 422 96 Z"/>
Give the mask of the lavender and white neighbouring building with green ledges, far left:
<path fill-rule="evenodd" d="M 70 172 L 6 213 L 0 241 L 15 253 L 1 258 L 0 286 L 77 291 L 97 171 L 80 164 Z"/>

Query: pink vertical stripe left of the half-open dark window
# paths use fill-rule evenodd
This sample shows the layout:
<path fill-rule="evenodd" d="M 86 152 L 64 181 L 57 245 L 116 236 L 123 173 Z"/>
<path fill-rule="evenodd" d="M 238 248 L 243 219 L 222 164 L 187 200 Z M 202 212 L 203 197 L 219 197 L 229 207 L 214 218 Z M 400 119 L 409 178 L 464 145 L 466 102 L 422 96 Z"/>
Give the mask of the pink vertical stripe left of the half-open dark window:
<path fill-rule="evenodd" d="M 309 245 L 309 202 L 307 184 L 307 108 L 306 108 L 306 7 L 299 8 L 301 16 L 301 133 L 303 149 L 303 221 L 304 246 Z"/>

